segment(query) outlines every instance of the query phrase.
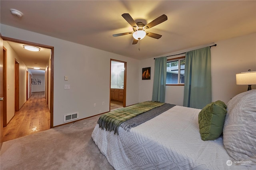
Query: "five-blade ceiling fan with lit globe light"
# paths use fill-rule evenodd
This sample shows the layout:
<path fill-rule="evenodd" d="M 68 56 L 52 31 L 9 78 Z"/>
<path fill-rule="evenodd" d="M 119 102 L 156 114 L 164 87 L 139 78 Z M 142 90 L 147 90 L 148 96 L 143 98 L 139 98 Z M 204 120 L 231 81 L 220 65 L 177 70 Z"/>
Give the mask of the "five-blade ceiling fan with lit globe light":
<path fill-rule="evenodd" d="M 130 16 L 130 14 L 122 14 L 122 17 L 130 24 L 132 25 L 133 31 L 131 32 L 126 32 L 126 33 L 119 33 L 119 34 L 113 34 L 113 37 L 118 37 L 121 35 L 128 35 L 128 34 L 132 34 L 132 36 L 134 37 L 134 40 L 132 42 L 132 44 L 137 44 L 139 40 L 143 39 L 146 35 L 148 37 L 152 37 L 155 39 L 160 39 L 162 37 L 162 35 L 160 34 L 156 34 L 156 33 L 151 33 L 148 31 L 145 31 L 146 29 L 152 28 L 164 21 L 167 20 L 167 16 L 166 15 L 162 15 L 156 19 L 154 19 L 153 21 L 151 21 L 150 23 L 148 23 L 147 25 L 145 25 L 142 22 L 135 22 L 132 17 Z"/>

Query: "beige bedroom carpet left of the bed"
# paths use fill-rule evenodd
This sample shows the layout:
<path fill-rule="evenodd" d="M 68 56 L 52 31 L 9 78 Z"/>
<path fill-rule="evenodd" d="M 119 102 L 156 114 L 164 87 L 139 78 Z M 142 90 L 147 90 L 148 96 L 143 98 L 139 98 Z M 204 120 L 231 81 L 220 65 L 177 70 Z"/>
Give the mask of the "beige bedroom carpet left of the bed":
<path fill-rule="evenodd" d="M 92 140 L 99 115 L 2 145 L 1 170 L 113 170 Z"/>

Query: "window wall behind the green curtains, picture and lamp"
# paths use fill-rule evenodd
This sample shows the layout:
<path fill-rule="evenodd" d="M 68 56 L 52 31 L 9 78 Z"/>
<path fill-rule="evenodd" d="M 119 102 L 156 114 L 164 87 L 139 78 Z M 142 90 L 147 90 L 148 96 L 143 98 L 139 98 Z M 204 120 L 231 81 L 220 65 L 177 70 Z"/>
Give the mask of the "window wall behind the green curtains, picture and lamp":
<path fill-rule="evenodd" d="M 215 43 L 217 46 L 211 48 L 212 101 L 222 100 L 227 103 L 248 88 L 248 86 L 236 85 L 236 73 L 246 72 L 248 69 L 256 71 L 256 33 Z M 176 54 L 190 50 L 192 49 L 179 51 Z M 180 56 L 184 55 L 174 57 Z M 168 59 L 174 57 L 168 57 Z M 144 67 L 151 67 L 151 80 L 141 80 L 140 78 L 140 102 L 152 99 L 154 58 L 140 61 L 140 71 Z M 253 85 L 252 88 L 256 89 L 256 85 Z M 166 86 L 166 103 L 183 106 L 183 96 L 184 86 Z"/>

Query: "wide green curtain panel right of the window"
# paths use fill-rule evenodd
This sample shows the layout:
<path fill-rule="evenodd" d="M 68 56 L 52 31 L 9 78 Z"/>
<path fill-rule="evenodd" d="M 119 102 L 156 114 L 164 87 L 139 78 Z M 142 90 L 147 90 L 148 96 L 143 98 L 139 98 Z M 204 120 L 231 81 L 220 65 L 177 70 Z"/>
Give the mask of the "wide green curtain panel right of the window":
<path fill-rule="evenodd" d="M 210 47 L 187 52 L 185 61 L 183 106 L 202 109 L 212 102 Z"/>

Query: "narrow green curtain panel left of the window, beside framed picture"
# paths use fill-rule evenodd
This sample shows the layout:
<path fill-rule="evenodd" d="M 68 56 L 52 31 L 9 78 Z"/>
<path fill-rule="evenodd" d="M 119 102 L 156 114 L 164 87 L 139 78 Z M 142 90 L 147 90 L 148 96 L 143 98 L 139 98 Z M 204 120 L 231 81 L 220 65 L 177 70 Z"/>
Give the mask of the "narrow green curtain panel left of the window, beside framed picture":
<path fill-rule="evenodd" d="M 166 84 L 167 57 L 155 59 L 155 72 L 152 101 L 164 102 Z"/>

